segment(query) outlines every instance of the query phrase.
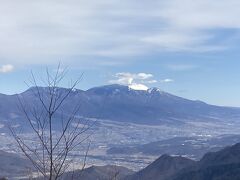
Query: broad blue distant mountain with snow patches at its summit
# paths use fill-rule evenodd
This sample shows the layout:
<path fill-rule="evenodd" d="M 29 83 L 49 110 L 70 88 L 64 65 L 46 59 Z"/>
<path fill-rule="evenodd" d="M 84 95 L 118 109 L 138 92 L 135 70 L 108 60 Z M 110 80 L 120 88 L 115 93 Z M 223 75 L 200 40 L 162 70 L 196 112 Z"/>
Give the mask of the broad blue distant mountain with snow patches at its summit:
<path fill-rule="evenodd" d="M 40 94 L 47 98 L 48 88 L 39 87 Z M 0 119 L 19 122 L 18 97 L 31 107 L 37 105 L 36 87 L 15 95 L 0 95 Z M 68 89 L 58 88 L 64 94 Z M 208 105 L 163 92 L 157 88 L 134 90 L 128 86 L 107 85 L 86 91 L 74 90 L 61 110 L 68 114 L 80 105 L 80 116 L 139 124 L 184 123 L 186 121 L 219 121 L 239 119 L 240 109 Z"/>

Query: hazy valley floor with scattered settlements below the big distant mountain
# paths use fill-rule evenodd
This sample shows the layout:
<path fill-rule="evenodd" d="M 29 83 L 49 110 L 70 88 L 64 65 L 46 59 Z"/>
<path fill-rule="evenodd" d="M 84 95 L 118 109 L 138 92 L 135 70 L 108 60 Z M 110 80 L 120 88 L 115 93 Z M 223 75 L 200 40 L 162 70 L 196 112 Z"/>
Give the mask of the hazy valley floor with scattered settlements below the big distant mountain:
<path fill-rule="evenodd" d="M 181 155 L 198 160 L 208 151 L 217 151 L 240 142 L 240 124 L 237 121 L 221 122 L 216 128 L 214 123 L 200 121 L 152 126 L 90 120 L 97 123 L 86 134 L 90 135 L 91 141 L 87 166 L 112 164 L 136 171 L 162 154 Z M 24 136 L 32 137 L 28 133 Z M 9 135 L 2 133 L 0 141 L 1 150 L 18 153 L 15 151 L 16 143 Z M 76 167 L 82 164 L 87 142 L 72 153 Z"/>

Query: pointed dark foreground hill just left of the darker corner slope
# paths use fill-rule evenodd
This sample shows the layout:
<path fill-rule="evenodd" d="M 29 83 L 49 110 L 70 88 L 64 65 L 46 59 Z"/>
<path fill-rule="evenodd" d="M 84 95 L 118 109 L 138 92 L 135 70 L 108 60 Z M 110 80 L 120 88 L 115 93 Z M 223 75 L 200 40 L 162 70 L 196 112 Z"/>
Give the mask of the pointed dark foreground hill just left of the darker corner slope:
<path fill-rule="evenodd" d="M 184 157 L 162 155 L 143 170 L 128 176 L 126 180 L 164 180 L 169 179 L 181 169 L 193 166 L 196 162 Z"/>

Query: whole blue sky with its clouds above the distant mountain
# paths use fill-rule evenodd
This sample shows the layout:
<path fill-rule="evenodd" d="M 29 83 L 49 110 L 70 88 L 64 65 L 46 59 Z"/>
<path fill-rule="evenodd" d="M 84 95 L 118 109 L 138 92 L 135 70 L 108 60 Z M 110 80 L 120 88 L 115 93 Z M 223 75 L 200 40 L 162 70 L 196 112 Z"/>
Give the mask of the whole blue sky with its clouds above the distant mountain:
<path fill-rule="evenodd" d="M 58 62 L 81 89 L 159 87 L 240 106 L 239 0 L 0 0 L 0 92 Z M 67 83 L 63 84 L 66 86 Z"/>

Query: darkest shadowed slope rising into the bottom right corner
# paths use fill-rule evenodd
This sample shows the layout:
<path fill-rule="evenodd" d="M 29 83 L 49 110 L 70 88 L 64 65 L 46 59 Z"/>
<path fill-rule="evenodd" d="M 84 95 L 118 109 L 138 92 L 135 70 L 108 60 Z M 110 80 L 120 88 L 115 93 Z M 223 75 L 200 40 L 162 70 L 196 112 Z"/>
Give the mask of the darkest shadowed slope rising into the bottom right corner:
<path fill-rule="evenodd" d="M 207 153 L 195 168 L 179 173 L 174 180 L 239 180 L 240 143 Z"/>

